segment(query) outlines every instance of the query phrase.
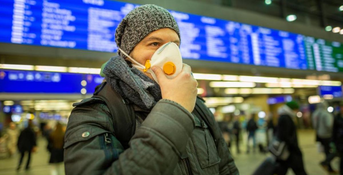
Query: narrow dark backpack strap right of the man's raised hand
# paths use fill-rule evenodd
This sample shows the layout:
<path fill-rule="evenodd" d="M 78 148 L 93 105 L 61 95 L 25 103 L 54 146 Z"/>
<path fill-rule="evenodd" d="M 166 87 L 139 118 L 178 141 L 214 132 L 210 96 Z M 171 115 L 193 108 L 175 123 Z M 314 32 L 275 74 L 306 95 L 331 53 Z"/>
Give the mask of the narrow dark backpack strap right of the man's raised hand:
<path fill-rule="evenodd" d="M 221 136 L 220 130 L 216 130 L 214 117 L 212 117 L 211 111 L 208 110 L 207 106 L 204 104 L 205 100 L 199 96 L 197 96 L 196 104 L 194 107 L 194 111 L 198 113 L 199 120 L 202 122 L 204 121 L 208 126 L 210 133 L 213 137 L 214 143 L 218 146 L 219 138 Z"/>

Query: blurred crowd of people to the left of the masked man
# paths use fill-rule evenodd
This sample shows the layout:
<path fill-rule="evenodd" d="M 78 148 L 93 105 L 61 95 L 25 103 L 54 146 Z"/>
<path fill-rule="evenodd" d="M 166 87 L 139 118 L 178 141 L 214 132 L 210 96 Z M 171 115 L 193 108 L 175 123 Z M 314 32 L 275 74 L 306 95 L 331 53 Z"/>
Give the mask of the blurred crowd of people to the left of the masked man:
<path fill-rule="evenodd" d="M 1 133 L 0 137 L 0 158 L 15 159 L 19 158 L 17 171 L 22 169 L 29 170 L 31 164 L 31 154 L 37 152 L 37 137 L 43 137 L 46 145 L 40 148 L 46 148 L 49 152 L 49 161 L 51 165 L 51 174 L 64 174 L 63 172 L 63 142 L 66 127 L 59 122 L 40 123 L 40 127 L 33 120 L 26 120 L 19 125 L 14 122 L 9 123 L 8 128 Z M 25 158 L 27 157 L 27 158 Z M 26 159 L 26 162 L 24 161 Z"/>

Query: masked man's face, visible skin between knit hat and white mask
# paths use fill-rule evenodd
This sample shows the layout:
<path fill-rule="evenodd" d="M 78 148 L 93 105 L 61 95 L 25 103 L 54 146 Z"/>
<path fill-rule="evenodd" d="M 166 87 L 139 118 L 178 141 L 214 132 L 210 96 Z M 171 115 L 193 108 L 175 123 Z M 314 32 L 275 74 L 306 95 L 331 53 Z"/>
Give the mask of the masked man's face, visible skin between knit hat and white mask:
<path fill-rule="evenodd" d="M 180 39 L 175 30 L 170 28 L 162 28 L 151 32 L 142 41 L 140 41 L 130 53 L 130 56 L 138 63 L 145 65 L 146 60 L 151 59 L 155 51 L 165 43 L 174 42 L 180 46 Z M 126 58 L 128 59 L 128 58 Z M 143 69 L 139 69 L 143 72 Z M 150 73 L 144 72 L 150 77 Z"/>

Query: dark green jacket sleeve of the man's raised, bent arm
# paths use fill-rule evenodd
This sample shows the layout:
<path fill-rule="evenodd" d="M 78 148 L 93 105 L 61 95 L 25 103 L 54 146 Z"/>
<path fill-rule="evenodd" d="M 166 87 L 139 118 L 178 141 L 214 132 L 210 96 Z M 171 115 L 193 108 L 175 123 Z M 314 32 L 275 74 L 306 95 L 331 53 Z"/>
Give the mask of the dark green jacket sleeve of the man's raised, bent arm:
<path fill-rule="evenodd" d="M 123 150 L 110 132 L 113 122 L 106 105 L 101 109 L 96 106 L 76 108 L 75 113 L 78 113 L 76 110 L 83 112 L 73 116 L 73 111 L 68 122 L 64 145 L 67 175 L 171 174 L 194 129 L 191 113 L 179 104 L 163 99 L 135 131 L 130 147 Z M 109 121 L 99 122 L 102 119 Z M 78 129 L 71 132 L 75 128 Z M 68 143 L 71 138 L 74 141 Z"/>

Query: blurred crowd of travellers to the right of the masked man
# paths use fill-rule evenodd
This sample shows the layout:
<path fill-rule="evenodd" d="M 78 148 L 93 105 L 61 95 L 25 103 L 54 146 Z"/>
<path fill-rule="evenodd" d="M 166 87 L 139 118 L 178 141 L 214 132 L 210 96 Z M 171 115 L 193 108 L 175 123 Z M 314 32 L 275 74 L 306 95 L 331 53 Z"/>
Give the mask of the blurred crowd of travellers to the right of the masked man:
<path fill-rule="evenodd" d="M 304 168 L 303 153 L 298 145 L 296 130 L 303 127 L 297 116 L 299 105 L 292 101 L 281 106 L 277 110 L 277 117 L 274 115 L 261 116 L 259 112 L 246 115 L 240 112 L 239 115 L 224 115 L 218 121 L 224 138 L 231 148 L 231 151 L 241 153 L 240 144 L 246 144 L 246 153 L 256 152 L 267 153 L 272 145 L 285 143 L 288 156 L 282 159 L 281 156 L 274 155 L 268 158 L 256 170 L 255 175 L 286 174 L 288 169 L 292 169 L 296 175 L 307 174 Z M 325 159 L 318 162 L 328 173 L 340 173 L 343 171 L 343 102 L 335 106 L 333 111 L 328 111 L 328 104 L 322 102 L 316 105 L 316 110 L 311 113 L 312 128 L 316 131 L 316 142 L 318 152 L 325 154 Z M 214 114 L 215 116 L 216 113 Z M 244 147 L 243 147 L 244 148 Z M 277 145 L 280 154 L 283 149 Z M 338 157 L 341 159 L 339 170 L 334 170 L 330 162 Z"/>

